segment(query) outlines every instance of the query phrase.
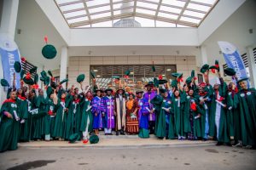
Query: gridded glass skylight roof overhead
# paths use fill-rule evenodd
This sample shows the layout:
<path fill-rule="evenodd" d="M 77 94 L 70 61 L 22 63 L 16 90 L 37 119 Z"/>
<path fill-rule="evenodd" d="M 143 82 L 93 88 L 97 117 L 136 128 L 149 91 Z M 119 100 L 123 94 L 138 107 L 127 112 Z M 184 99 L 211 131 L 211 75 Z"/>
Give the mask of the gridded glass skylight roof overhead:
<path fill-rule="evenodd" d="M 143 27 L 198 27 L 218 0 L 55 0 L 70 28 L 112 27 L 120 19 Z"/>

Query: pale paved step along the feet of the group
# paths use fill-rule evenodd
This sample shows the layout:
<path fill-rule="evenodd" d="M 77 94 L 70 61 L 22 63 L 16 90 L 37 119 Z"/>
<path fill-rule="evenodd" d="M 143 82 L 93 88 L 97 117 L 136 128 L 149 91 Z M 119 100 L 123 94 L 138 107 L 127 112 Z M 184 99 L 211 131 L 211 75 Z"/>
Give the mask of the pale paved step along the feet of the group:
<path fill-rule="evenodd" d="M 215 141 L 189 141 L 177 139 L 157 139 L 151 136 L 149 139 L 140 139 L 137 136 L 104 136 L 100 135 L 100 141 L 97 144 L 83 144 L 82 141 L 77 141 L 74 144 L 69 144 L 68 141 L 32 141 L 28 143 L 20 143 L 20 147 L 166 147 L 166 146 L 183 146 L 183 145 L 213 145 Z"/>

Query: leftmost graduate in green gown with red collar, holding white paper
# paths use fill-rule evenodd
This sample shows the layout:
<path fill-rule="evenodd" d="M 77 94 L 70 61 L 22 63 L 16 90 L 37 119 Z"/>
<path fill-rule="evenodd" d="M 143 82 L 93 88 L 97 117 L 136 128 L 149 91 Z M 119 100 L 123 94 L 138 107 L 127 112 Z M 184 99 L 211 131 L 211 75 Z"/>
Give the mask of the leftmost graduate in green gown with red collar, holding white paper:
<path fill-rule="evenodd" d="M 16 103 L 16 92 L 9 94 L 0 111 L 0 152 L 18 148 L 20 114 Z"/>

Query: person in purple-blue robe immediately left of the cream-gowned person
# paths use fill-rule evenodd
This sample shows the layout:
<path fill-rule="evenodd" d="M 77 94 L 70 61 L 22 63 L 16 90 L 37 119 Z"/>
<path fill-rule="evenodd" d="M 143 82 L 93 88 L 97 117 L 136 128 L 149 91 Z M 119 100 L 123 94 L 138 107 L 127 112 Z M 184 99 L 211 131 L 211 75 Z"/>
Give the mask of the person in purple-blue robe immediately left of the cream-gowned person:
<path fill-rule="evenodd" d="M 113 90 L 108 88 L 105 90 L 107 94 L 101 99 L 102 122 L 105 135 L 112 135 L 112 128 L 114 128 L 114 99 L 112 96 Z"/>

